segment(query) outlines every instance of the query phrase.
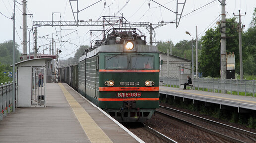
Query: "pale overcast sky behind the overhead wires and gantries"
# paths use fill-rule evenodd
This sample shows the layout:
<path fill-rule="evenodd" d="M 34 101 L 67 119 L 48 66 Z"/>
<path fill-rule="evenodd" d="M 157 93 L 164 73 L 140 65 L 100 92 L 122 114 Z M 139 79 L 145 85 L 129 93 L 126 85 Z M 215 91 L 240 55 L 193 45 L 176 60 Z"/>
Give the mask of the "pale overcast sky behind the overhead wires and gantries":
<path fill-rule="evenodd" d="M 22 4 L 21 1 L 22 0 L 18 0 L 17 2 Z M 99 0 L 79 0 L 79 10 L 82 10 L 97 1 Z M 172 11 L 176 11 L 176 0 L 154 1 Z M 179 0 L 179 3 L 182 3 L 182 1 L 183 0 Z M 106 2 L 105 7 L 104 2 Z M 22 52 L 22 5 L 19 3 L 16 5 L 16 42 L 20 45 L 19 50 Z M 247 30 L 247 28 L 250 27 L 252 14 L 256 7 L 256 0 L 226 0 L 226 4 L 227 18 L 232 18 L 233 13 L 238 14 L 239 9 L 241 10 L 241 14 L 246 12 L 246 15 L 242 16 L 241 21 L 245 24 L 244 30 Z M 10 19 L 13 15 L 13 6 L 13 0 L 0 0 L 0 43 L 13 39 L 13 21 Z M 153 24 L 157 24 L 160 21 L 174 21 L 176 19 L 176 14 L 166 8 L 150 0 L 102 0 L 79 12 L 79 20 L 97 20 L 101 16 L 113 16 L 114 13 L 120 12 L 123 13 L 123 16 L 128 21 L 150 22 Z M 181 12 L 181 9 L 182 7 L 180 5 L 178 13 Z M 27 0 L 27 13 L 33 14 L 33 17 L 27 15 L 28 30 L 31 29 L 33 21 L 52 20 L 52 12 L 58 12 L 53 14 L 53 20 L 74 20 L 69 0 Z M 59 14 L 59 12 L 61 14 Z M 192 13 L 188 14 L 190 12 Z M 183 15 L 185 14 L 188 15 L 181 18 L 177 29 L 175 28 L 175 24 L 167 24 L 155 29 L 156 35 L 154 41 L 172 40 L 173 43 L 176 44 L 183 39 L 191 40 L 191 36 L 185 34 L 185 31 L 189 31 L 195 38 L 195 26 L 198 26 L 198 37 L 203 36 L 207 29 L 215 27 L 216 22 L 221 19 L 221 5 L 218 0 L 187 0 L 183 11 Z M 40 27 L 38 28 L 38 36 L 49 36 L 39 38 L 37 46 L 49 44 L 50 42 L 48 40 L 53 36 L 57 42 L 57 48 L 60 48 L 63 51 L 60 54 L 60 58 L 67 59 L 74 56 L 75 50 L 78 49 L 80 45 L 90 45 L 90 30 L 100 30 L 101 28 L 102 27 L 63 26 L 62 40 L 68 40 L 70 42 L 63 42 L 61 47 L 57 42 L 56 34 L 53 34 L 56 33 L 57 30 L 58 36 L 60 37 L 60 27 L 56 27 L 56 29 L 50 26 Z M 142 27 L 139 29 L 147 36 L 147 42 L 149 43 L 148 31 Z M 75 30 L 77 30 L 77 32 L 71 33 Z M 69 33 L 71 34 L 67 35 Z M 29 32 L 27 35 L 27 40 L 29 40 Z M 96 33 L 95 35 L 99 35 L 99 33 Z M 32 41 L 33 34 L 31 33 L 30 36 Z M 46 48 L 47 46 L 41 46 L 39 52 L 42 52 L 43 48 Z M 31 44 L 31 52 L 32 48 L 33 44 Z M 29 51 L 29 44 L 27 51 Z M 45 54 L 49 54 L 49 47 L 45 50 Z"/>

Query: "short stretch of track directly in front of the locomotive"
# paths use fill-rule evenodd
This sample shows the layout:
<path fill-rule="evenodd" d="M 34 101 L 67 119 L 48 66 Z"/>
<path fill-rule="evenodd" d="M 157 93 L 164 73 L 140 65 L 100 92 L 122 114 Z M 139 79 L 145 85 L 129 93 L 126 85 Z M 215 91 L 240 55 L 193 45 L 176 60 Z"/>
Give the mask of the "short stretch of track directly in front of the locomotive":
<path fill-rule="evenodd" d="M 177 143 L 145 124 L 125 123 L 123 125 L 146 143 Z"/>

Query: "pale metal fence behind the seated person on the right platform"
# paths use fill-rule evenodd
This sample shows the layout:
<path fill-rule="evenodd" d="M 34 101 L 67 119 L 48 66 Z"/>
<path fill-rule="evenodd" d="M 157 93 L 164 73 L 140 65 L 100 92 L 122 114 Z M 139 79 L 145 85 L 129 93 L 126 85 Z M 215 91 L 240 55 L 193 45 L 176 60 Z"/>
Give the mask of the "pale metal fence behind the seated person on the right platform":
<path fill-rule="evenodd" d="M 176 87 L 180 85 L 179 78 L 160 77 L 160 81 L 163 81 L 163 84 Z M 195 78 L 192 83 L 193 89 L 207 89 L 212 92 L 229 91 L 230 94 L 244 93 L 254 97 L 256 91 L 255 80 Z"/>

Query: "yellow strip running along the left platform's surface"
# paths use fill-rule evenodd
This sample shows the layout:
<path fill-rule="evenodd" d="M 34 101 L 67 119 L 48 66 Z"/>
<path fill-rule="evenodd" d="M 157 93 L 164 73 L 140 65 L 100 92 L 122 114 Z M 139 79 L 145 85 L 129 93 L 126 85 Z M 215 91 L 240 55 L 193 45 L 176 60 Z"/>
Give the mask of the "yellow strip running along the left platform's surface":
<path fill-rule="evenodd" d="M 113 143 L 102 131 L 102 129 L 95 123 L 91 116 L 84 110 L 84 108 L 66 90 L 62 83 L 58 84 L 90 141 L 92 143 Z"/>

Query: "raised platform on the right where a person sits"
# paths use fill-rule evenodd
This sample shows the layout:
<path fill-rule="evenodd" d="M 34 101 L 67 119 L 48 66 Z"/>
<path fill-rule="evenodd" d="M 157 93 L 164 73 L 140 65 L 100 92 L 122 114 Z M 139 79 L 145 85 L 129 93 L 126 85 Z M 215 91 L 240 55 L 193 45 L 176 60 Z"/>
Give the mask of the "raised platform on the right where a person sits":
<path fill-rule="evenodd" d="M 220 108 L 224 106 L 238 107 L 238 112 L 243 109 L 256 110 L 256 97 L 214 93 L 199 90 L 182 90 L 180 88 L 159 86 L 159 93 L 171 96 L 177 96 L 192 100 L 198 100 L 207 103 L 219 104 Z"/>

